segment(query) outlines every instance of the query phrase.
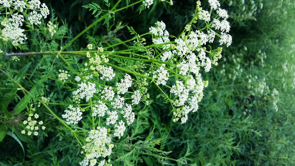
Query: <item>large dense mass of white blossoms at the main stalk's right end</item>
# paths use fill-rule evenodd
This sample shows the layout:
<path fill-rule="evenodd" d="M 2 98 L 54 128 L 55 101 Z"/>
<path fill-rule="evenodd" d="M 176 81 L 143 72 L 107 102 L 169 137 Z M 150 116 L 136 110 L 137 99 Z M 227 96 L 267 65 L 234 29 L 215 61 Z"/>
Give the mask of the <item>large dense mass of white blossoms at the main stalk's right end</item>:
<path fill-rule="evenodd" d="M 220 8 L 220 3 L 217 0 L 209 0 L 209 4 L 211 9 L 206 11 L 200 7 L 201 2 L 197 1 L 198 12 L 196 16 L 185 26 L 182 35 L 175 39 L 175 44 L 163 44 L 170 42 L 164 22 L 156 22 L 155 27 L 149 29 L 153 36 L 153 43 L 163 44 L 163 53 L 160 54 L 161 61 L 173 63 L 173 66 L 163 64 L 153 72 L 155 83 L 167 86 L 171 77 L 169 72 L 175 68 L 174 65 L 177 68 L 177 73 L 173 73 L 175 76 L 172 76 L 175 77 L 175 84 L 169 85 L 174 98 L 167 99 L 173 105 L 173 121 L 180 120 L 181 123 L 185 123 L 188 113 L 198 110 L 198 102 L 203 98 L 203 89 L 208 85 L 208 82 L 202 79 L 201 67 L 205 72 L 208 72 L 212 65 L 218 64 L 217 61 L 221 58 L 222 48 L 207 50 L 207 43 L 212 43 L 216 36 L 220 38 L 220 45 L 229 46 L 232 43 L 232 37 L 228 34 L 230 23 L 226 20 L 228 18 L 227 11 Z M 206 27 L 202 30 L 193 30 L 192 28 L 192 24 L 196 23 L 197 19 L 206 22 Z"/>

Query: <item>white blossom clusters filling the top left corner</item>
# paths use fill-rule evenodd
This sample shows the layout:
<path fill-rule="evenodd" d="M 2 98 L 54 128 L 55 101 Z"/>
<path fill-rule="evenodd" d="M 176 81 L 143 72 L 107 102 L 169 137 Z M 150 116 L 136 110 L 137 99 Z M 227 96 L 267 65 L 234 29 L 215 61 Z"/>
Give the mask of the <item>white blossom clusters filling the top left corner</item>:
<path fill-rule="evenodd" d="M 16 11 L 11 15 L 1 16 L 3 19 L 0 38 L 11 42 L 14 46 L 27 39 L 23 33 L 24 29 L 21 28 L 25 18 L 30 21 L 30 24 L 37 25 L 41 24 L 41 19 L 49 14 L 46 4 L 41 4 L 39 0 L 0 0 L 0 11 Z"/>

